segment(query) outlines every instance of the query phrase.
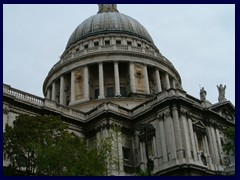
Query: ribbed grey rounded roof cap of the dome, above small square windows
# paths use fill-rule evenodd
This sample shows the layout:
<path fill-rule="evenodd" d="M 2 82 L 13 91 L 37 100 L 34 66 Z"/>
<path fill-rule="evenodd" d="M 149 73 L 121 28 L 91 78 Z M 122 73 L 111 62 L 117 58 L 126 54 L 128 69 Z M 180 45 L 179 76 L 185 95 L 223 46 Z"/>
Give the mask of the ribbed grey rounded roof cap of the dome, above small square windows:
<path fill-rule="evenodd" d="M 117 11 L 104 11 L 83 21 L 73 31 L 68 40 L 66 49 L 72 44 L 89 36 L 111 32 L 137 36 L 153 43 L 153 40 L 145 27 L 137 20 Z"/>

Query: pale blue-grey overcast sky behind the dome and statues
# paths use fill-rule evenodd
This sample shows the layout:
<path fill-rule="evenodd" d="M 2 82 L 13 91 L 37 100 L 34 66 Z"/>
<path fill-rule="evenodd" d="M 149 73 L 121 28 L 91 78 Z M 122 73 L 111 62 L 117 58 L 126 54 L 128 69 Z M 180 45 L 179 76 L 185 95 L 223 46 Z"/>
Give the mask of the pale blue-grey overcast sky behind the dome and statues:
<path fill-rule="evenodd" d="M 118 4 L 139 21 L 175 66 L 184 90 L 218 101 L 217 85 L 235 105 L 235 5 Z M 95 4 L 3 5 L 3 83 L 43 97 L 42 85 L 75 28 Z"/>

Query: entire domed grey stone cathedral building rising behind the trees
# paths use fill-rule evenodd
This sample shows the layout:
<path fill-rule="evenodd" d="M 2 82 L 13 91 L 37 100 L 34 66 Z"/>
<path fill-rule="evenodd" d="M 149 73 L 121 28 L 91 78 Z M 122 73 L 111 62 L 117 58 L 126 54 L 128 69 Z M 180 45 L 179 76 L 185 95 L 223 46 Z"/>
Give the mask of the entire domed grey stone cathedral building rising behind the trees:
<path fill-rule="evenodd" d="M 112 134 L 119 161 L 109 164 L 109 175 L 139 169 L 155 175 L 235 173 L 235 157 L 222 147 L 224 129 L 235 126 L 235 107 L 223 98 L 211 104 L 205 95 L 188 95 L 146 29 L 115 4 L 99 5 L 97 15 L 73 32 L 43 93 L 40 98 L 4 84 L 3 123 L 19 114 L 60 115 L 89 146 Z"/>

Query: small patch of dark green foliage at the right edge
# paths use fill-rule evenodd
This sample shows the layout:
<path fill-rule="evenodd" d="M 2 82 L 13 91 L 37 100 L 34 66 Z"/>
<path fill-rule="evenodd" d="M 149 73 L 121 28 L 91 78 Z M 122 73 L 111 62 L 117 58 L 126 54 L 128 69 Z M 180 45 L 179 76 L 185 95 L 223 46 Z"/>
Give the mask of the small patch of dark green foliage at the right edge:
<path fill-rule="evenodd" d="M 229 127 L 225 130 L 225 136 L 227 137 L 226 143 L 223 145 L 223 150 L 229 155 L 230 152 L 235 154 L 235 128 Z"/>

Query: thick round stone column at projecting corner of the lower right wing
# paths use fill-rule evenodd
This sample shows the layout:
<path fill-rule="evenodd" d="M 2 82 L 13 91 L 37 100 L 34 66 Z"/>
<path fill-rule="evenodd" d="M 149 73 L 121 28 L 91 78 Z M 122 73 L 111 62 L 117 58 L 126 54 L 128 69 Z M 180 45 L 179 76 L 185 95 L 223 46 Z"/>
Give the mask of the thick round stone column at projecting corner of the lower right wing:
<path fill-rule="evenodd" d="M 172 108 L 172 116 L 173 116 L 174 134 L 176 139 L 177 157 L 179 159 L 182 159 L 184 157 L 182 132 L 181 132 L 181 127 L 179 122 L 178 109 L 176 106 L 173 106 Z"/>

